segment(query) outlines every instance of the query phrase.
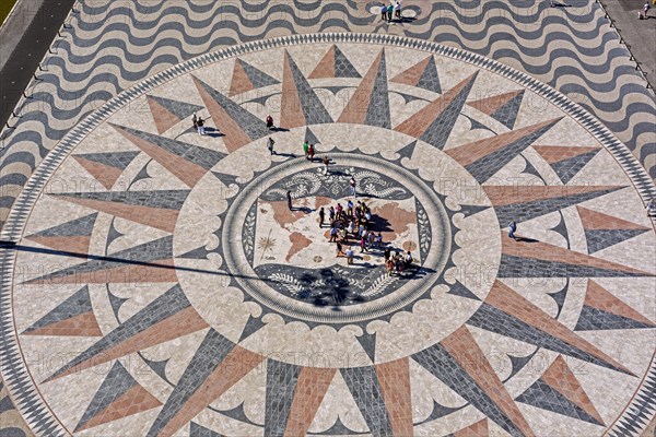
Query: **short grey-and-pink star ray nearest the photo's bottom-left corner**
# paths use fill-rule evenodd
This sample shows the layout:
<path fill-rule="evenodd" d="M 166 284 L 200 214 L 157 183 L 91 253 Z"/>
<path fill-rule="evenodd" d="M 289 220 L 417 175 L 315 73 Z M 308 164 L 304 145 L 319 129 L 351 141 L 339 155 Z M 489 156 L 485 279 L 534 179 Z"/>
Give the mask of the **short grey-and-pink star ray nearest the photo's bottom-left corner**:
<path fill-rule="evenodd" d="M 74 432 L 114 422 L 162 405 L 117 361 L 86 408 Z"/>

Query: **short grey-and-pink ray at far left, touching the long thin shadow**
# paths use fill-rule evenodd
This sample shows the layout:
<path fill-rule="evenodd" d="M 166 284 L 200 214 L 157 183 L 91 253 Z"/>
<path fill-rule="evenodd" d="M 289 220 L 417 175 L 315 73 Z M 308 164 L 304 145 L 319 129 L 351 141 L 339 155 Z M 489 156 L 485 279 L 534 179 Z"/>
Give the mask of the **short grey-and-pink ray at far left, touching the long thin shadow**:
<path fill-rule="evenodd" d="M 93 226 L 98 213 L 85 215 L 71 220 L 57 226 L 39 231 L 25 238 L 47 246 L 55 250 L 63 250 L 77 253 L 86 253 L 91 241 Z"/>

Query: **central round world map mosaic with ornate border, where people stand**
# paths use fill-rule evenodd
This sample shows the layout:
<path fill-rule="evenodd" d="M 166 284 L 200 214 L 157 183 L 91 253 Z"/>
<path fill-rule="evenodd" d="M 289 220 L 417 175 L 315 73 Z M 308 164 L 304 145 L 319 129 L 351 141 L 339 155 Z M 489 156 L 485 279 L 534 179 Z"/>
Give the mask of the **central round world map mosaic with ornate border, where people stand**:
<path fill-rule="evenodd" d="M 226 217 L 226 263 L 250 296 L 289 316 L 326 322 L 379 317 L 412 302 L 440 276 L 450 249 L 448 217 L 437 196 L 397 165 L 345 153 L 331 160 L 328 172 L 324 165 L 295 161 L 250 182 Z M 380 234 L 382 244 L 363 250 L 359 226 L 348 232 L 349 200 L 354 206 L 366 204 L 371 220 L 361 224 L 376 237 Z M 330 241 L 329 208 L 338 204 L 344 212 L 335 221 L 335 239 L 342 240 L 341 227 L 347 228 L 341 253 Z M 326 218 L 320 227 L 321 208 Z M 230 237 L 234 235 L 242 235 L 241 241 Z M 390 275 L 386 249 L 400 258 L 410 251 L 412 262 L 401 260 L 401 271 L 395 265 Z"/>

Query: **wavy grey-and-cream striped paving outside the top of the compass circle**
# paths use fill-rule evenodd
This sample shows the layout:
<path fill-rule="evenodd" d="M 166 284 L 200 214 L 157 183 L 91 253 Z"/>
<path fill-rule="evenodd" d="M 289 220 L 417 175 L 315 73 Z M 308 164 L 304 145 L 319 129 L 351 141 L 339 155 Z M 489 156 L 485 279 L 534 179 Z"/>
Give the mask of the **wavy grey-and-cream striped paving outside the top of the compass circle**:
<path fill-rule="evenodd" d="M 44 156 L 85 116 L 181 61 L 239 43 L 307 33 L 403 35 L 493 58 L 589 110 L 656 178 L 656 101 L 594 1 L 407 0 L 387 24 L 366 0 L 82 0 L 0 138 L 0 225 Z M 52 54 L 54 52 L 54 54 Z"/>

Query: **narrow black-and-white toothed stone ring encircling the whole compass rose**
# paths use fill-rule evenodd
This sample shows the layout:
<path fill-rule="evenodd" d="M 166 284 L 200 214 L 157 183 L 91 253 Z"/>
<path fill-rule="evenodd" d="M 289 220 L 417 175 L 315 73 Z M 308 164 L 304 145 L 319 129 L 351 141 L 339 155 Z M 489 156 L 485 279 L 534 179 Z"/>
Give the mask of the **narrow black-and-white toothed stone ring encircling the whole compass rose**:
<path fill-rule="evenodd" d="M 621 165 L 629 176 L 631 182 L 636 188 L 639 194 L 646 203 L 652 197 L 656 197 L 656 187 L 647 173 L 631 154 L 629 149 L 622 144 L 606 127 L 594 118 L 585 109 L 581 108 L 574 102 L 569 99 L 562 93 L 553 90 L 528 74 L 522 73 L 511 67 L 504 66 L 497 61 L 484 58 L 462 49 L 441 46 L 436 43 L 430 43 L 421 39 L 393 36 L 393 35 L 371 35 L 371 34 L 308 34 L 293 35 L 279 38 L 272 38 L 261 42 L 253 42 L 235 47 L 229 47 L 211 54 L 202 55 L 198 58 L 188 60 L 181 64 L 172 67 L 160 72 L 152 78 L 130 87 L 117 97 L 107 102 L 101 109 L 89 116 L 84 121 L 74 127 L 66 138 L 44 158 L 39 167 L 33 173 L 31 179 L 25 185 L 19 199 L 4 224 L 2 237 L 16 240 L 22 235 L 23 226 L 38 193 L 45 186 L 51 174 L 63 162 L 68 154 L 99 123 L 115 114 L 126 103 L 145 94 L 152 88 L 163 83 L 189 73 L 192 70 L 208 66 L 210 63 L 233 58 L 239 55 L 260 51 L 269 48 L 286 47 L 303 44 L 319 43 L 355 43 L 355 44 L 386 44 L 389 46 L 419 49 L 434 55 L 449 57 L 452 59 L 468 62 L 475 67 L 483 68 L 506 79 L 515 81 L 519 85 L 539 94 L 542 98 L 557 106 L 563 113 L 581 123 L 590 132 L 601 145 Z M 654 218 L 652 218 L 654 221 Z M 11 314 L 11 276 L 14 268 L 14 257 L 11 250 L 4 250 L 0 253 L 0 314 Z M 23 359 L 20 353 L 20 346 L 16 341 L 13 319 L 9 317 L 0 318 L 0 356 L 3 361 L 2 376 L 8 388 L 13 394 L 16 405 L 22 412 L 28 411 L 30 418 L 26 422 L 36 433 L 47 435 L 65 435 L 63 427 L 51 413 L 47 404 L 43 402 L 36 387 L 33 385 L 26 368 L 23 366 Z M 647 401 L 641 401 L 640 399 Z M 623 414 L 609 427 L 609 434 L 637 435 L 632 423 L 635 417 L 651 418 L 654 415 L 656 406 L 656 355 L 652 358 L 649 370 L 643 378 L 641 388 L 632 398 L 631 403 L 624 409 Z"/>

